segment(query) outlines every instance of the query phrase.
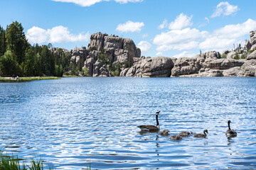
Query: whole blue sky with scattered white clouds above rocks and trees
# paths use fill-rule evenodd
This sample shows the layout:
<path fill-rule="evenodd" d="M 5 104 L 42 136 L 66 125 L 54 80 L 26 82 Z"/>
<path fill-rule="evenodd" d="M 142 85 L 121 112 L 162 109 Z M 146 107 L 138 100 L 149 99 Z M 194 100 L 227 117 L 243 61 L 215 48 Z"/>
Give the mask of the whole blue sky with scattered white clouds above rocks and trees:
<path fill-rule="evenodd" d="M 131 38 L 148 57 L 232 50 L 256 30 L 254 0 L 1 0 L 0 26 L 22 24 L 31 44 L 87 47 L 92 33 Z"/>

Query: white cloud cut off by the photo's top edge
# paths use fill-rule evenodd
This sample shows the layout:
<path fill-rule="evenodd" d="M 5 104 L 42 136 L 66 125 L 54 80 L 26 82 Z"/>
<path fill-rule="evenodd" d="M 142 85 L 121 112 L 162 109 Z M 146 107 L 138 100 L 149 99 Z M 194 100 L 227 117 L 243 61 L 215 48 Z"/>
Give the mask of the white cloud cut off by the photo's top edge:
<path fill-rule="evenodd" d="M 59 1 L 59 2 L 68 2 L 77 4 L 79 6 L 92 6 L 93 4 L 99 3 L 101 1 L 110 1 L 110 0 L 52 0 L 52 1 Z M 128 2 L 142 2 L 144 0 L 114 0 L 120 4 L 126 4 Z"/>

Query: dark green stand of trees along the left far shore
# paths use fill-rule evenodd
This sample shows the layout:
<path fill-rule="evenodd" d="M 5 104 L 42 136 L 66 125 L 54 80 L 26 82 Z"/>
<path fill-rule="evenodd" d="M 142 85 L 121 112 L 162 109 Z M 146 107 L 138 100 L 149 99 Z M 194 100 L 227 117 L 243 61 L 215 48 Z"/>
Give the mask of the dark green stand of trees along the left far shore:
<path fill-rule="evenodd" d="M 51 52 L 52 45 L 31 45 L 17 21 L 4 30 L 0 26 L 0 76 L 19 77 L 56 76 L 62 77 L 70 67 L 70 52 L 58 49 Z"/>

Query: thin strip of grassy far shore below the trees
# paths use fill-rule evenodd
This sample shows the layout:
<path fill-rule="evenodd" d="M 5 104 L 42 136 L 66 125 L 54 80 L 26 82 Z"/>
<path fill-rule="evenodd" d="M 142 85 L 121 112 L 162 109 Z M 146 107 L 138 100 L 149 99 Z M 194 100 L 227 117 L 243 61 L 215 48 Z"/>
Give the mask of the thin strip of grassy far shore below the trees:
<path fill-rule="evenodd" d="M 60 79 L 59 77 L 19 77 L 13 79 L 12 77 L 0 77 L 0 82 L 24 82 L 32 80 L 44 80 L 44 79 Z"/>

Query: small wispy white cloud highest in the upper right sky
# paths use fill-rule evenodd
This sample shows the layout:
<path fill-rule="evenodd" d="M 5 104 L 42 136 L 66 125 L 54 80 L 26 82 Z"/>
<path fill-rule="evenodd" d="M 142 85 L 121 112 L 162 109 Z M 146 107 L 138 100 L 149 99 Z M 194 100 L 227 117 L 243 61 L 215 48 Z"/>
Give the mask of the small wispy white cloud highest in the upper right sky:
<path fill-rule="evenodd" d="M 237 11 L 239 11 L 238 6 L 233 6 L 230 5 L 227 1 L 222 1 L 220 2 L 220 4 L 218 4 L 213 15 L 210 16 L 210 18 L 214 18 L 221 15 L 230 16 L 231 14 L 236 13 Z"/>

